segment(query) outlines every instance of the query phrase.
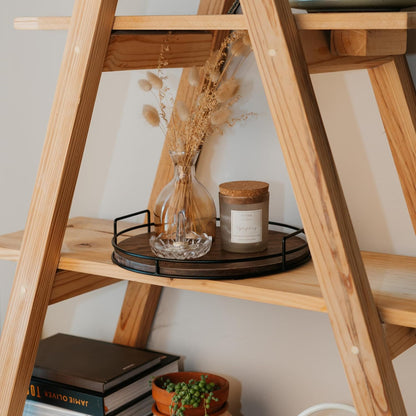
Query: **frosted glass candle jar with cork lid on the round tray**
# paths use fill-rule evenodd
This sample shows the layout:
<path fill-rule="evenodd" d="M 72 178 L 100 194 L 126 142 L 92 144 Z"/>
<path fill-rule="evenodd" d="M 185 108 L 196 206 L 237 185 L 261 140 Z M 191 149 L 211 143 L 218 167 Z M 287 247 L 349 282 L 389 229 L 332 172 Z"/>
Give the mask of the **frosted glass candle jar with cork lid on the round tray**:
<path fill-rule="evenodd" d="M 269 184 L 235 181 L 220 185 L 221 244 L 233 253 L 267 248 Z"/>

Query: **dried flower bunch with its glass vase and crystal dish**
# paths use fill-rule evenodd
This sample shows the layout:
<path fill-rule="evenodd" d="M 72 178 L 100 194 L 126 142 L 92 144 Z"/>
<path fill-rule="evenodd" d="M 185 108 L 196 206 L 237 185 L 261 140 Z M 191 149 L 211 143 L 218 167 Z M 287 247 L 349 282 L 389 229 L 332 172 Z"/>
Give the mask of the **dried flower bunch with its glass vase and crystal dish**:
<path fill-rule="evenodd" d="M 149 240 L 153 252 L 166 258 L 196 258 L 211 247 L 216 232 L 215 204 L 208 191 L 194 180 L 194 164 L 207 138 L 221 134 L 225 126 L 246 118 L 233 118 L 231 107 L 240 98 L 240 81 L 236 78 L 241 63 L 251 52 L 247 32 L 231 32 L 202 68 L 187 71 L 193 90 L 187 102 L 175 99 L 163 73 L 164 54 L 159 68 L 139 80 L 140 88 L 154 96 L 157 105 L 143 106 L 143 116 L 160 127 L 175 164 L 173 180 L 161 191 L 153 209 L 155 236 Z M 168 131 L 169 126 L 169 131 Z"/>

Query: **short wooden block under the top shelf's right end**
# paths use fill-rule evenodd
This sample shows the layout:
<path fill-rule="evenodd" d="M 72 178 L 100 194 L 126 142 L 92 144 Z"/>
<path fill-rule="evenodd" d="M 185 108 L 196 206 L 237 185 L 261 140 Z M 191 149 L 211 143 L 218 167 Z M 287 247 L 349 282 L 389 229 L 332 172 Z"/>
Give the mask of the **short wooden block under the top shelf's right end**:
<path fill-rule="evenodd" d="M 403 55 L 407 30 L 332 30 L 331 51 L 339 56 Z"/>

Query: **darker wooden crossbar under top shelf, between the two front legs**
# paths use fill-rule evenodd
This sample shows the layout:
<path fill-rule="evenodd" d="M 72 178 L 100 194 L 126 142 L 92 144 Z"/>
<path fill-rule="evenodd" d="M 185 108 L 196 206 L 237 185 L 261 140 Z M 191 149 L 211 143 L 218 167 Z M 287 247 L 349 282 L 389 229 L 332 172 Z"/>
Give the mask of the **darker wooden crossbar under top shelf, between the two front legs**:
<path fill-rule="evenodd" d="M 155 69 L 159 65 L 161 45 L 169 42 L 165 52 L 166 68 L 203 65 L 211 52 L 213 35 L 205 32 L 114 32 L 108 45 L 103 71 Z"/>

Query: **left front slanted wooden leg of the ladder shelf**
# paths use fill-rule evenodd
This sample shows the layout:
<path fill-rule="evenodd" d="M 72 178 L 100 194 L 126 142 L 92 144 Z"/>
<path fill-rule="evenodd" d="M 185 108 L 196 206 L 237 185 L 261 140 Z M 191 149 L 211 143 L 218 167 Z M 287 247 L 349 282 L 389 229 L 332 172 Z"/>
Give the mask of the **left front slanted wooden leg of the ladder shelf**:
<path fill-rule="evenodd" d="M 0 341 L 0 414 L 22 414 L 117 0 L 77 0 Z"/>

